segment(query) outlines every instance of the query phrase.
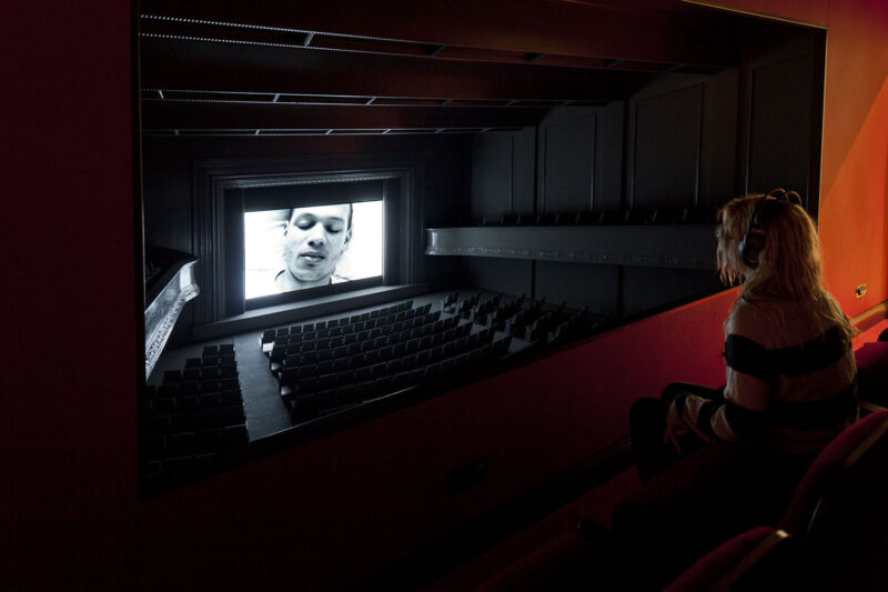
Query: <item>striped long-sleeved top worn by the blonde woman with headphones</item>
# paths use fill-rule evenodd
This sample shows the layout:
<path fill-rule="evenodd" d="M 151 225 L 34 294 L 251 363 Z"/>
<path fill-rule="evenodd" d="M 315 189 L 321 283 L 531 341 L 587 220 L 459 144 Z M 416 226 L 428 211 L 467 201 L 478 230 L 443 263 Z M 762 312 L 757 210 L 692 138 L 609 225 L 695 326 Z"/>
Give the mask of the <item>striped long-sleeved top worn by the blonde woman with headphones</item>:
<path fill-rule="evenodd" d="M 794 454 L 816 454 L 857 419 L 851 342 L 835 321 L 786 301 L 740 300 L 726 323 L 724 401 L 679 394 L 672 440 L 694 432 Z"/>

